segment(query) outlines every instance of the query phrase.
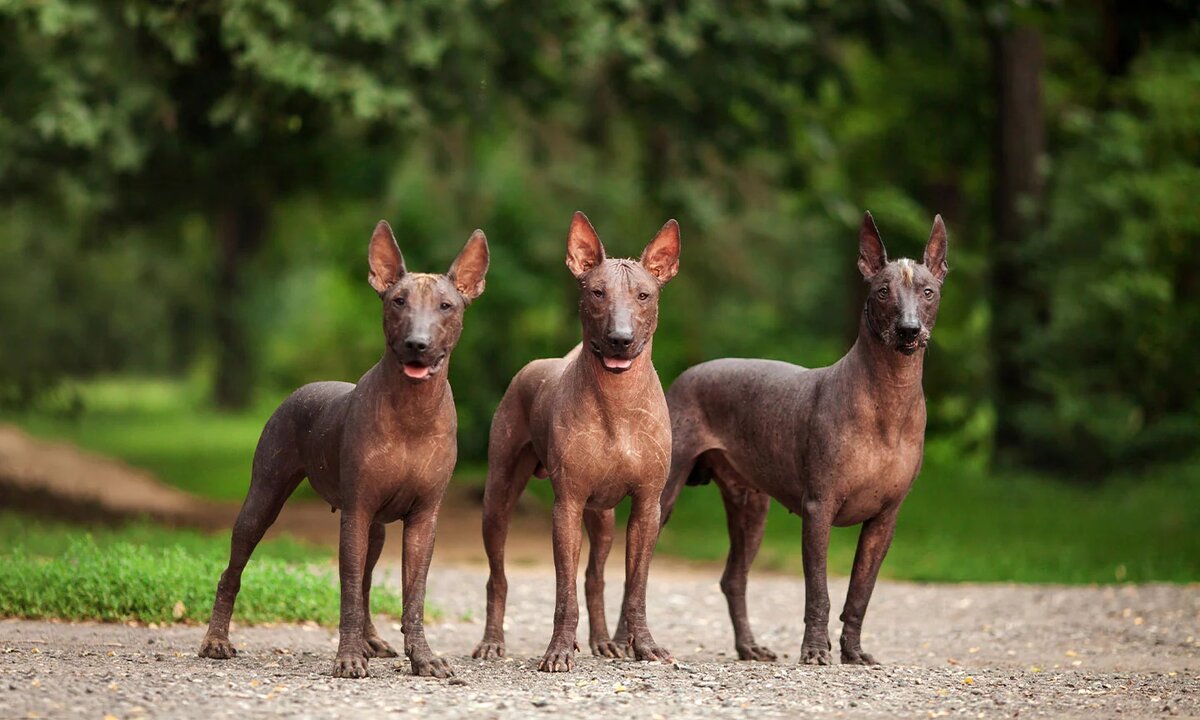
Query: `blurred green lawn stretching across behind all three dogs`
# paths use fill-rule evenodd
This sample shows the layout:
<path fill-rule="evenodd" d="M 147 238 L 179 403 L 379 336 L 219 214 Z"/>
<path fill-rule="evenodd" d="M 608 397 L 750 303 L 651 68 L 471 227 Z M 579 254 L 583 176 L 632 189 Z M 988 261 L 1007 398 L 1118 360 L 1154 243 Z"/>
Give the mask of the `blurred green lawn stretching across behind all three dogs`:
<path fill-rule="evenodd" d="M 241 414 L 206 409 L 204 389 L 169 380 L 112 379 L 78 388 L 85 412 L 8 414 L 37 436 L 120 457 L 202 496 L 239 500 L 263 422 L 281 397 Z M 900 511 L 883 575 L 928 581 L 1198 582 L 1200 457 L 1081 486 L 1034 474 L 992 474 L 944 439 Z M 466 476 L 470 475 L 469 479 Z M 478 468 L 457 481 L 479 481 Z M 312 493 L 307 485 L 301 492 Z M 530 492 L 548 504 L 544 481 Z M 857 528 L 835 529 L 830 572 L 850 572 Z M 685 488 L 660 552 L 719 560 L 728 548 L 712 485 Z M 800 522 L 775 505 L 758 568 L 800 571 Z"/>

